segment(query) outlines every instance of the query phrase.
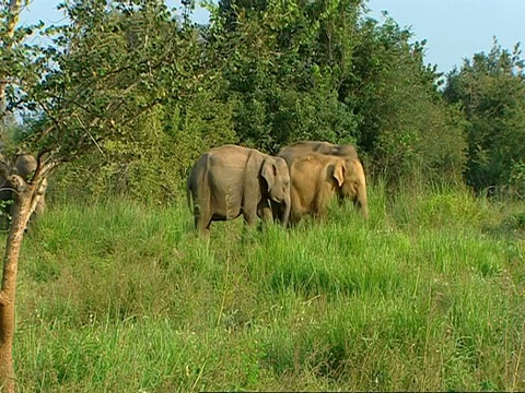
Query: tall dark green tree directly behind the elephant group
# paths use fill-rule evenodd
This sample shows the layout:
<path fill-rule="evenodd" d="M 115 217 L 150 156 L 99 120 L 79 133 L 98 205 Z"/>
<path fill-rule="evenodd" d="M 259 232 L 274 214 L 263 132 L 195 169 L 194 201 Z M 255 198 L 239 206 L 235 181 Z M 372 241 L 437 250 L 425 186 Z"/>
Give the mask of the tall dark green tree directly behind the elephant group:
<path fill-rule="evenodd" d="M 352 110 L 338 98 L 362 1 L 232 1 L 212 10 L 212 39 L 232 48 L 224 97 L 235 133 L 276 153 L 299 139 L 352 142 Z"/>

